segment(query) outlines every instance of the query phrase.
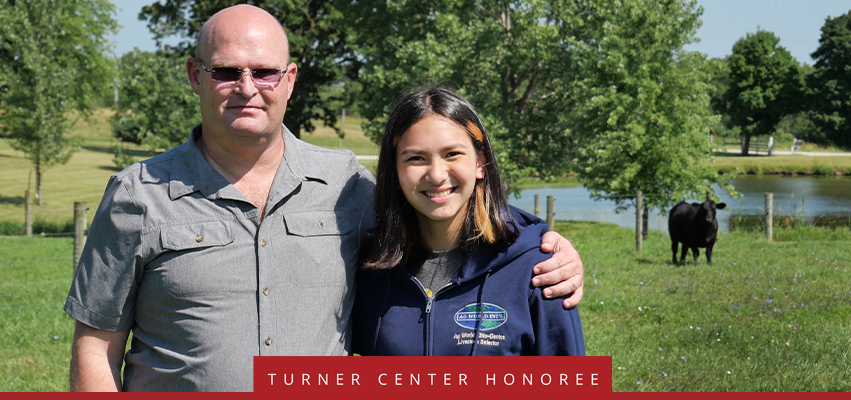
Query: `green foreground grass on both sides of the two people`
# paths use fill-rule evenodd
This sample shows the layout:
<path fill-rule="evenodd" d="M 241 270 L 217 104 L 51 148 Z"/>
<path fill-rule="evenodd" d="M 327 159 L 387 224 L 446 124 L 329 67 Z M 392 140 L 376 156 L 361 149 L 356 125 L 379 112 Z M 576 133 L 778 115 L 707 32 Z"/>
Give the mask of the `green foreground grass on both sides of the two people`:
<path fill-rule="evenodd" d="M 714 265 L 675 266 L 663 233 L 636 255 L 629 229 L 556 228 L 582 255 L 587 351 L 612 356 L 614 390 L 851 390 L 851 247 L 831 231 L 721 234 Z M 68 388 L 71 253 L 0 237 L 0 392 Z"/>

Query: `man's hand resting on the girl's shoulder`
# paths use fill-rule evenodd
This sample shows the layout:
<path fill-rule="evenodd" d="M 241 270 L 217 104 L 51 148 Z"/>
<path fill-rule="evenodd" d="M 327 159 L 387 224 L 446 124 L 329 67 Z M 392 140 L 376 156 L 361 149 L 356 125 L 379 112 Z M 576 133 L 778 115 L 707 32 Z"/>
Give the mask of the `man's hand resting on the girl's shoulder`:
<path fill-rule="evenodd" d="M 532 272 L 534 286 L 549 286 L 543 290 L 547 298 L 571 295 L 564 299 L 562 306 L 570 308 L 582 301 L 582 289 L 585 286 L 583 277 L 585 270 L 579 252 L 573 248 L 570 241 L 558 232 L 550 231 L 544 234 L 541 250 L 553 252 L 552 258 L 535 265 Z"/>

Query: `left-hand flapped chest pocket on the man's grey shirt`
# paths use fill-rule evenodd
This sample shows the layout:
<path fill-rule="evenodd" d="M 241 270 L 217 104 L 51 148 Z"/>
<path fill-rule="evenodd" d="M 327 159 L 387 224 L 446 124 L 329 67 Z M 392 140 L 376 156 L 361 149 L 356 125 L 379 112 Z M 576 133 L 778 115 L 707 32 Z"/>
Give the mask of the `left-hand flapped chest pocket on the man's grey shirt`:
<path fill-rule="evenodd" d="M 256 289 L 249 282 L 255 275 L 254 264 L 240 260 L 252 252 L 242 252 L 241 257 L 239 249 L 232 246 L 234 233 L 230 223 L 165 227 L 160 231 L 160 240 L 163 253 L 146 271 L 145 279 L 158 281 L 169 293 L 186 297 Z"/>

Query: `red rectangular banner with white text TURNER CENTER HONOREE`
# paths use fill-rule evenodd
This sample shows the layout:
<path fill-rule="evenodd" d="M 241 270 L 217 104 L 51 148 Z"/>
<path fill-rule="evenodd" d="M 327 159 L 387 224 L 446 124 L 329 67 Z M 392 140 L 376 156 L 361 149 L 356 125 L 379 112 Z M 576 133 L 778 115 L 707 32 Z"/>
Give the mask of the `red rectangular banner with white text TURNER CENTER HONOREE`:
<path fill-rule="evenodd" d="M 254 357 L 254 397 L 612 398 L 611 357 Z M 290 397 L 297 396 L 297 397 Z M 590 396 L 590 397 L 589 397 Z"/>

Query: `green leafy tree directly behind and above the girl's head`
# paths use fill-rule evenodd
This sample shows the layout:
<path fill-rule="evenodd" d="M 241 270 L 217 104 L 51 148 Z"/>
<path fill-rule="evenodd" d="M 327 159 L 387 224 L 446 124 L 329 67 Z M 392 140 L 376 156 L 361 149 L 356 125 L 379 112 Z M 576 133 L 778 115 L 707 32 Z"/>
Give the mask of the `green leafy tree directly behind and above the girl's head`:
<path fill-rule="evenodd" d="M 509 180 L 566 173 L 568 136 L 558 123 L 566 104 L 554 94 L 575 71 L 559 26 L 581 20 L 570 13 L 556 18 L 554 7 L 544 0 L 365 0 L 341 7 L 363 60 L 365 130 L 380 136 L 388 106 L 433 82 L 477 106 Z"/>

